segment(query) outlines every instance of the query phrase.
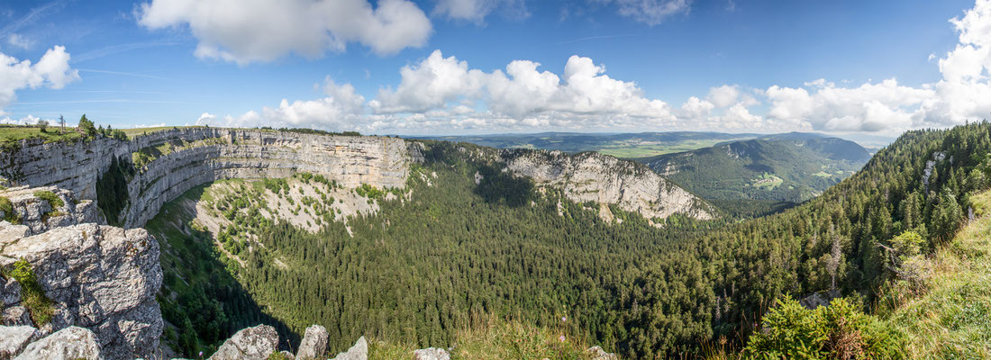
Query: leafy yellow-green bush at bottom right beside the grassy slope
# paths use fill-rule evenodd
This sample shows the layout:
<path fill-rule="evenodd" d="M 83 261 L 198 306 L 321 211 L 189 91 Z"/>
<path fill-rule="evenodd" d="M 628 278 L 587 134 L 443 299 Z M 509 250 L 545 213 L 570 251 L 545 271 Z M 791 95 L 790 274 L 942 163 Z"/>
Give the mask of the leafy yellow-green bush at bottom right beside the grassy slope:
<path fill-rule="evenodd" d="M 846 299 L 808 310 L 794 300 L 778 301 L 750 336 L 744 358 L 900 359 L 898 334 Z"/>

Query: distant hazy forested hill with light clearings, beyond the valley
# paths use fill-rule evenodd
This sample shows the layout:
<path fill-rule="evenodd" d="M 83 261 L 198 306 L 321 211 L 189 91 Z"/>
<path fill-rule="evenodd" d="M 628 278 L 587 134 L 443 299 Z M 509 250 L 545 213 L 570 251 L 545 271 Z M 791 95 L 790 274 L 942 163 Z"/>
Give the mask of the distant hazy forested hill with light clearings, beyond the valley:
<path fill-rule="evenodd" d="M 867 150 L 853 141 L 786 134 L 637 160 L 717 203 L 740 199 L 799 203 L 850 176 L 869 158 Z"/>

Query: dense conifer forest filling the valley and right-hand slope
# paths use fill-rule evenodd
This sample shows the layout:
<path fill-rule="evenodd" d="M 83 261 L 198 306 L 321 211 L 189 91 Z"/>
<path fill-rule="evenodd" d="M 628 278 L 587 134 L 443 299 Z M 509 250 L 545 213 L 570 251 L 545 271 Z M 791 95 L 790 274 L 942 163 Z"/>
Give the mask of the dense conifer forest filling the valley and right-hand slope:
<path fill-rule="evenodd" d="M 293 331 L 327 326 L 335 349 L 361 334 L 450 346 L 473 314 L 490 313 L 538 325 L 566 316 L 571 331 L 629 358 L 699 352 L 722 336 L 741 344 L 778 299 L 879 301 L 896 237 L 912 230 L 933 249 L 988 186 L 989 131 L 910 132 L 798 208 L 666 228 L 615 209 L 621 224 L 583 204 L 559 209 L 554 191 L 458 149 L 470 145 L 430 142 L 408 199 L 378 199 L 377 214 L 319 233 L 257 222 L 245 236 L 260 245 L 240 253 L 244 264 L 224 261 Z"/>

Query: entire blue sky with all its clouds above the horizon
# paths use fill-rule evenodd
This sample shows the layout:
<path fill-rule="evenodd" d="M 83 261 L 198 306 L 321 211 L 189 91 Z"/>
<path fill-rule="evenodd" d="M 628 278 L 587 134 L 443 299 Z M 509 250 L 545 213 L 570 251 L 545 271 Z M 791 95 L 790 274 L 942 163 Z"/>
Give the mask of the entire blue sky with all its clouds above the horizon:
<path fill-rule="evenodd" d="M 991 111 L 989 24 L 987 0 L 4 0 L 0 120 L 897 135 Z"/>

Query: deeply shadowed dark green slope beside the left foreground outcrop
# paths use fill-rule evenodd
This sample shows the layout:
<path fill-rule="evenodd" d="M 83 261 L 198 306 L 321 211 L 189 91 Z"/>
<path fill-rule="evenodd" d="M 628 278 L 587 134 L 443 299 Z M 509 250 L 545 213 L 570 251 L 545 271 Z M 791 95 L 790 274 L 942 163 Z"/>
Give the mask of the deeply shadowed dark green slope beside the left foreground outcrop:
<path fill-rule="evenodd" d="M 279 349 L 298 344 L 299 335 L 265 312 L 231 273 L 239 265 L 221 257 L 213 234 L 194 225 L 196 202 L 210 183 L 196 186 L 166 203 L 146 228 L 162 247 L 165 275 L 158 300 L 165 326 L 163 341 L 179 355 L 209 356 L 237 331 L 259 324 L 275 327 Z"/>

